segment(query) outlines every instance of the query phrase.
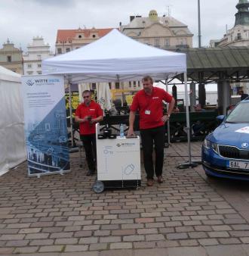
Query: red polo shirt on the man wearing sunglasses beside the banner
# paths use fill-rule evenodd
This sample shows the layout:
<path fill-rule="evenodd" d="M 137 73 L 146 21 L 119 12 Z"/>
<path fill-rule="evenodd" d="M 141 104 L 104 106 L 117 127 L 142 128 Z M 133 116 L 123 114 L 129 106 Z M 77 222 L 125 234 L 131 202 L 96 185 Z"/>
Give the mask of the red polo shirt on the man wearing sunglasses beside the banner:
<path fill-rule="evenodd" d="M 78 108 L 75 111 L 75 116 L 79 118 L 85 118 L 86 116 L 91 116 L 92 118 L 103 116 L 103 110 L 100 108 L 95 101 L 91 101 L 90 105 L 87 106 L 85 103 L 78 105 Z M 79 123 L 79 133 L 82 135 L 88 135 L 96 133 L 95 124 L 90 122 Z"/>

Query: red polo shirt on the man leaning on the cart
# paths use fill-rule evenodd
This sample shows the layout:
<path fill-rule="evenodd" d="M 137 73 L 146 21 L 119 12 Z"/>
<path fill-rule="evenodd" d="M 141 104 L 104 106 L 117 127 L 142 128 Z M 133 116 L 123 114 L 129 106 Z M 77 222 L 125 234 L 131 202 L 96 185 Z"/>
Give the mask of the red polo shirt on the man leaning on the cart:
<path fill-rule="evenodd" d="M 163 116 L 163 100 L 171 102 L 172 95 L 158 87 L 153 87 L 151 95 L 147 95 L 143 89 L 137 92 L 130 109 L 134 112 L 139 111 L 140 129 L 143 130 L 164 125 L 164 122 L 161 121 L 161 117 Z"/>

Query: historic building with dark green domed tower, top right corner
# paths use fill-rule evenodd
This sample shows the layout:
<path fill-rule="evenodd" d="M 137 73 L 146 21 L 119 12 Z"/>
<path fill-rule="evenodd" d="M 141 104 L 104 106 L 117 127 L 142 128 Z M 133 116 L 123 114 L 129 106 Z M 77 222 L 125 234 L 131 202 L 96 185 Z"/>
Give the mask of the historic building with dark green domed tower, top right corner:
<path fill-rule="evenodd" d="M 249 2 L 239 0 L 236 5 L 235 26 L 228 30 L 222 39 L 211 40 L 211 47 L 218 46 L 249 46 Z"/>

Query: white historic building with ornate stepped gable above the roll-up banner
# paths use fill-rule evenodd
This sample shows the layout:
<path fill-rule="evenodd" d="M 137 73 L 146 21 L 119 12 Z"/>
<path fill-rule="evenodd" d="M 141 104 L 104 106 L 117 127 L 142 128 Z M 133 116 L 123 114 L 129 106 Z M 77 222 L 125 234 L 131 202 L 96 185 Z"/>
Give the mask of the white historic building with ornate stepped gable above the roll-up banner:
<path fill-rule="evenodd" d="M 45 44 L 42 36 L 34 37 L 32 43 L 27 46 L 27 52 L 23 54 L 24 74 L 42 74 L 42 60 L 51 57 L 54 57 L 54 54 L 50 52 L 50 45 Z"/>

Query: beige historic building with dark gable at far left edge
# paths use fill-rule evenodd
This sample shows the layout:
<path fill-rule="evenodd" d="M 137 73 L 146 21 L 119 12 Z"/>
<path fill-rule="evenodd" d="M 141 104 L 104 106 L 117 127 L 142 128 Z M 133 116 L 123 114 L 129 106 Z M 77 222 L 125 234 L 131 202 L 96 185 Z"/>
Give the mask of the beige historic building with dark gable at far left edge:
<path fill-rule="evenodd" d="M 0 66 L 8 68 L 16 73 L 23 75 L 23 51 L 14 47 L 14 43 L 7 42 L 0 48 Z"/>

